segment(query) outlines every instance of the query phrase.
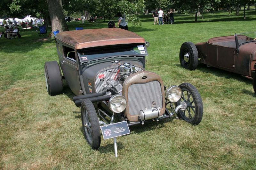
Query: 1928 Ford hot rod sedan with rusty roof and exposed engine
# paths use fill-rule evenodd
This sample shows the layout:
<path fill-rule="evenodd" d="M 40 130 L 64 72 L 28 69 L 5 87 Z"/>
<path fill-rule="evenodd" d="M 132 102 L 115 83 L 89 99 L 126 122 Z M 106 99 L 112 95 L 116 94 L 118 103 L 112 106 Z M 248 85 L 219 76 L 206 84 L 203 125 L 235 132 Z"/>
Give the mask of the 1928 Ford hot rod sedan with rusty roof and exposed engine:
<path fill-rule="evenodd" d="M 93 149 L 100 147 L 100 125 L 114 120 L 128 126 L 172 117 L 201 122 L 203 103 L 197 89 L 189 83 L 166 89 L 159 75 L 145 71 L 146 46 L 142 37 L 118 28 L 57 34 L 60 66 L 45 62 L 46 89 L 51 96 L 62 93 L 62 70 L 77 95 L 73 101 L 81 107 L 84 137 Z"/>

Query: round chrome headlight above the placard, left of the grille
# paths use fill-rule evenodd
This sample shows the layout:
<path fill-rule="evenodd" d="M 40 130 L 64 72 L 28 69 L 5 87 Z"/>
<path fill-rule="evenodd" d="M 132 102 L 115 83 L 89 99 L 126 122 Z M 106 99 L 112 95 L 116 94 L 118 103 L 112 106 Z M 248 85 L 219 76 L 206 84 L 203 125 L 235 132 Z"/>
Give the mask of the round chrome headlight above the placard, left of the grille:
<path fill-rule="evenodd" d="M 114 113 L 120 113 L 126 108 L 126 100 L 124 96 L 114 95 L 108 101 L 108 107 Z"/>

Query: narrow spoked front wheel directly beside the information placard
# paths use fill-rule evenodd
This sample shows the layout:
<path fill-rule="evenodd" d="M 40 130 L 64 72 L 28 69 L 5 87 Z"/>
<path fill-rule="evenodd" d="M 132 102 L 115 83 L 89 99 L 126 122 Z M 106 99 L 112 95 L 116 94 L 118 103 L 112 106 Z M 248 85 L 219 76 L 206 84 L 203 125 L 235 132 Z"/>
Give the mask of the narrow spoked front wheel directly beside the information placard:
<path fill-rule="evenodd" d="M 96 110 L 89 99 L 84 99 L 81 103 L 81 119 L 84 130 L 84 138 L 92 149 L 100 148 L 100 124 Z"/>

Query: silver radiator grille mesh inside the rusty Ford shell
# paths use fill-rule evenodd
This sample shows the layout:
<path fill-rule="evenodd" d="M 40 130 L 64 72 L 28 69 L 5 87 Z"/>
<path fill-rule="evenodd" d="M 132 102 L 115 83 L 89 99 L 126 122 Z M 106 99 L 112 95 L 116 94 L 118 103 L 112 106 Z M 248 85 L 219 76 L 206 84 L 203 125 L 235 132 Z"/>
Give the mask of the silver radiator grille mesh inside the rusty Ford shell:
<path fill-rule="evenodd" d="M 129 86 L 128 103 L 131 116 L 139 115 L 141 109 L 151 108 L 152 101 L 156 102 L 156 107 L 163 108 L 162 90 L 159 81 L 135 83 Z"/>

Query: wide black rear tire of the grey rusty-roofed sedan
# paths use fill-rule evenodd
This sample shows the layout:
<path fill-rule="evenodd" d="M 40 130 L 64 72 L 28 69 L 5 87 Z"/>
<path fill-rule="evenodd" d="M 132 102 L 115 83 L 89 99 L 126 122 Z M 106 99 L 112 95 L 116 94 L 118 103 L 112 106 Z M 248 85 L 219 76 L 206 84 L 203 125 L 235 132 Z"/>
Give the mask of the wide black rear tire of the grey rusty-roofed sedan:
<path fill-rule="evenodd" d="M 57 61 L 49 61 L 44 64 L 44 77 L 46 90 L 49 95 L 59 95 L 63 91 L 62 75 Z"/>

